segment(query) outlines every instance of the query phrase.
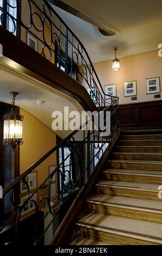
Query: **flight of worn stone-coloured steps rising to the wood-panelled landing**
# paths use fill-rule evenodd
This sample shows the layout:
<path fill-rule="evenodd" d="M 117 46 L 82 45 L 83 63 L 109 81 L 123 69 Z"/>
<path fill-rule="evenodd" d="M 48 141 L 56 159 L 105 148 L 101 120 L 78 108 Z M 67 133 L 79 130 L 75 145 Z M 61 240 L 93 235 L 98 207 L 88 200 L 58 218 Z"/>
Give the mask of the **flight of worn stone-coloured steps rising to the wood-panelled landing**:
<path fill-rule="evenodd" d="M 162 245 L 162 131 L 123 131 L 71 245 Z"/>

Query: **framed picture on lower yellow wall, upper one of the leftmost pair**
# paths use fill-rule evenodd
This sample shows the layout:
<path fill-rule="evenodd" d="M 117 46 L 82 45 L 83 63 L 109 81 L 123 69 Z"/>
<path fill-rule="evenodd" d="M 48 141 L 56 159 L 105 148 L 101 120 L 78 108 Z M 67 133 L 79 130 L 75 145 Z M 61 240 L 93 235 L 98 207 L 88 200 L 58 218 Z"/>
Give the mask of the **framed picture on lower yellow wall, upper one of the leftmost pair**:
<path fill-rule="evenodd" d="M 25 180 L 21 182 L 21 194 L 27 192 L 27 184 L 29 185 L 30 191 L 37 188 L 37 172 L 28 174 Z"/>

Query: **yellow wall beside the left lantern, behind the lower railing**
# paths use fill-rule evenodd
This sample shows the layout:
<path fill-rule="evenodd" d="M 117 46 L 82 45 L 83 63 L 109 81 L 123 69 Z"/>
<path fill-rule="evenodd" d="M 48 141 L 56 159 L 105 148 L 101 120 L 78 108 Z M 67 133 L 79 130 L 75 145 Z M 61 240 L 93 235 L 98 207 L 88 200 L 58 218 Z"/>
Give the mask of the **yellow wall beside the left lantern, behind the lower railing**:
<path fill-rule="evenodd" d="M 41 121 L 23 109 L 20 109 L 20 114 L 24 117 L 24 142 L 20 146 L 20 174 L 22 174 L 56 145 L 56 135 L 48 127 L 43 125 Z M 56 153 L 49 156 L 45 162 L 35 169 L 38 172 L 38 185 L 47 178 L 48 167 L 52 165 L 57 165 Z"/>

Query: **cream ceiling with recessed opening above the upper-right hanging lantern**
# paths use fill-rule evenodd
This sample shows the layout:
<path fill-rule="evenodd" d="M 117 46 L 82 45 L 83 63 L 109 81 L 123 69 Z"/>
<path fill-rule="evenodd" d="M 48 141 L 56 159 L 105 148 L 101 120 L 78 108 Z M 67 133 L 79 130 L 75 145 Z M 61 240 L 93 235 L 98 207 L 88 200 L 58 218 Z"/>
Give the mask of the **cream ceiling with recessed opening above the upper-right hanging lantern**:
<path fill-rule="evenodd" d="M 117 36 L 101 39 L 94 27 L 53 5 L 53 8 L 83 42 L 93 63 L 152 51 L 162 43 L 161 0 L 63 0 L 99 23 L 115 27 Z"/>

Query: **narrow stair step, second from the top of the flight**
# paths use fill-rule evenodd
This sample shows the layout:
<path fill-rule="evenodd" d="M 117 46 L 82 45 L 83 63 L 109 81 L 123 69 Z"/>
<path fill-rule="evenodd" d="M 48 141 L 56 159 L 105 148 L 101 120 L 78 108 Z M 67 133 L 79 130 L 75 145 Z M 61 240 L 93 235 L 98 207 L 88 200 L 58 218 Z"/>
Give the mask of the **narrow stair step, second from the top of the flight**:
<path fill-rule="evenodd" d="M 146 140 L 146 139 L 148 139 L 148 140 L 150 140 L 150 139 L 162 139 L 162 134 L 154 134 L 154 135 L 152 135 L 152 134 L 149 134 L 149 135 L 145 135 L 145 134 L 142 134 L 142 135 L 122 135 L 121 137 L 121 140 L 122 141 L 124 141 L 124 140 L 126 140 L 126 141 L 130 141 L 130 140 L 138 140 L 138 139 L 141 139 L 141 140 Z"/>

